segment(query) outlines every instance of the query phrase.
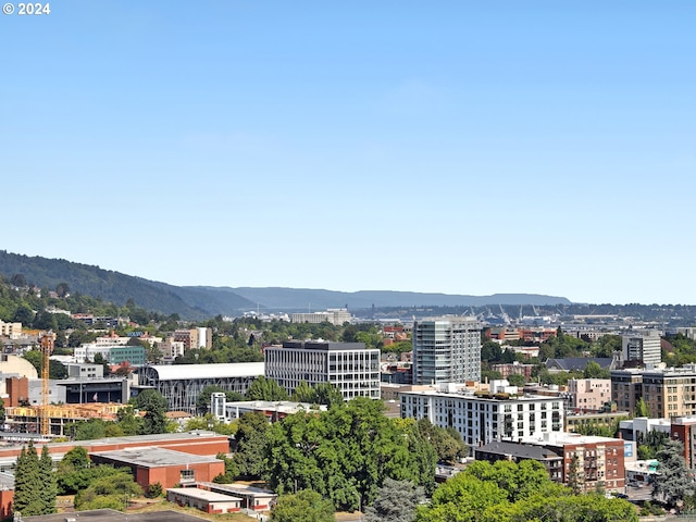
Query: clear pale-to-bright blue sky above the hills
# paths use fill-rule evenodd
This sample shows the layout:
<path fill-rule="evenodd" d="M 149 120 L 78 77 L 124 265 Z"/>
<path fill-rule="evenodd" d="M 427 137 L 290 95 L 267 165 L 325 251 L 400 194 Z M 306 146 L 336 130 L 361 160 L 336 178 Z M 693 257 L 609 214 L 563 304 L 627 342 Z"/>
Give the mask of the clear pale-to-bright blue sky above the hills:
<path fill-rule="evenodd" d="M 0 17 L 0 248 L 696 304 L 692 0 L 50 8 Z"/>

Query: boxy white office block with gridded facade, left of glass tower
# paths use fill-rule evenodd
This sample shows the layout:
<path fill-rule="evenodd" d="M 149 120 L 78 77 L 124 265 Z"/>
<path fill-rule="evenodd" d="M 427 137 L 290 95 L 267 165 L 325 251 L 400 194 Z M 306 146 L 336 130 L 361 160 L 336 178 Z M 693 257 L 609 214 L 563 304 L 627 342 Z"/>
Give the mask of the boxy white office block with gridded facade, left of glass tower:
<path fill-rule="evenodd" d="M 304 381 L 310 386 L 328 383 L 345 400 L 380 398 L 380 350 L 364 343 L 289 340 L 264 349 L 265 376 L 289 394 Z"/>

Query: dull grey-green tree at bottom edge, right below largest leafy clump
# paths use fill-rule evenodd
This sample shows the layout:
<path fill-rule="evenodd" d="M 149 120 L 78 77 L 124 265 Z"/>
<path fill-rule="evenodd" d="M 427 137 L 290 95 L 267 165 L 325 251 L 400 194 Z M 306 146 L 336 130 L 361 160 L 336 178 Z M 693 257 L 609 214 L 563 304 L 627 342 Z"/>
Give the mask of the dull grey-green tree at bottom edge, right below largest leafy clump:
<path fill-rule="evenodd" d="M 365 509 L 368 522 L 412 522 L 415 508 L 425 499 L 425 489 L 410 481 L 386 478 L 372 506 Z"/>

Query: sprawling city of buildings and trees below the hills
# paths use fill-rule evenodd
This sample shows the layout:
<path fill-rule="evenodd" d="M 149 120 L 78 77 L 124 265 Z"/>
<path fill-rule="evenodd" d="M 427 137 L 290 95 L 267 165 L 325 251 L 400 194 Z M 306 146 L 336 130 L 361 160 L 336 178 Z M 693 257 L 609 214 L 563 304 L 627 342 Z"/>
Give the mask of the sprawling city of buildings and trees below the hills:
<path fill-rule="evenodd" d="M 375 307 L 266 309 L 190 321 L 23 274 L 0 276 L 0 295 L 11 315 L 0 321 L 4 517 L 137 517 L 158 505 L 286 520 L 312 505 L 326 520 L 440 520 L 437 492 L 484 472 L 535 473 L 548 505 L 534 509 L 562 502 L 573 520 L 584 499 L 598 520 L 694 501 L 696 325 L 678 326 L 688 307 L 638 318 L 635 307 L 622 316 L 499 304 L 411 321 Z M 53 477 L 48 501 L 21 480 L 30 455 Z M 352 463 L 332 470 L 343 458 Z M 121 492 L 98 485 L 103 467 L 124 470 L 105 477 Z M 473 509 L 459 495 L 446 509 Z M 514 495 L 508 509 L 530 517 L 532 494 Z M 485 520 L 482 509 L 471 520 Z"/>

